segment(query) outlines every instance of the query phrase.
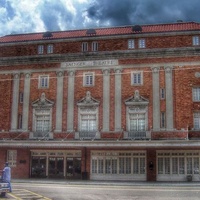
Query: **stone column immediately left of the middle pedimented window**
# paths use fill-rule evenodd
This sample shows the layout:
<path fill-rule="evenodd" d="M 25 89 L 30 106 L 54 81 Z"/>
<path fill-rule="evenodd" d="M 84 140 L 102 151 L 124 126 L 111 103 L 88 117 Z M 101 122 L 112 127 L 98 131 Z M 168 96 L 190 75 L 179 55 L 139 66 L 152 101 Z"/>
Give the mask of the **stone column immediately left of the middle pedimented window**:
<path fill-rule="evenodd" d="M 68 71 L 67 131 L 74 130 L 74 80 L 75 71 Z"/>

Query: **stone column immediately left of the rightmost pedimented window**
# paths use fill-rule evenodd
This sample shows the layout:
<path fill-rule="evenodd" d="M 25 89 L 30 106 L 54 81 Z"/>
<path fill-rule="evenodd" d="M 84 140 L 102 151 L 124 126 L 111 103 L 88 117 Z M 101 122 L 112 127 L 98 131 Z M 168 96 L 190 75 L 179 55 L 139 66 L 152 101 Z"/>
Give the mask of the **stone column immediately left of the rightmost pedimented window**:
<path fill-rule="evenodd" d="M 121 131 L 121 72 L 115 69 L 115 131 Z"/>

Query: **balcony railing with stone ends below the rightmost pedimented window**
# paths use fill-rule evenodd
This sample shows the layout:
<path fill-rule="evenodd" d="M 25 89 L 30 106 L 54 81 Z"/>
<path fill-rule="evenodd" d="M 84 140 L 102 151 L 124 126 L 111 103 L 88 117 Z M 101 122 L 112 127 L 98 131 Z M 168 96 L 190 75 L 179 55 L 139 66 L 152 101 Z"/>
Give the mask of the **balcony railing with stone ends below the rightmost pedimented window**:
<path fill-rule="evenodd" d="M 124 132 L 124 139 L 145 140 L 151 139 L 150 131 L 127 131 Z"/>

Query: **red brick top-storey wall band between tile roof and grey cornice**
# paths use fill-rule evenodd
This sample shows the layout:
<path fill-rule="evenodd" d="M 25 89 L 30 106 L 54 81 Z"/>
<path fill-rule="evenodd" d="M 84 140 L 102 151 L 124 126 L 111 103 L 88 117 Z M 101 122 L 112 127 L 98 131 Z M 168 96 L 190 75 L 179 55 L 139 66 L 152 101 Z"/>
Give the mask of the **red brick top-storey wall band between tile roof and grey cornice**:
<path fill-rule="evenodd" d="M 190 35 L 176 35 L 176 36 L 141 36 L 141 38 L 146 37 L 146 48 L 177 48 L 177 47 L 189 47 L 192 46 L 192 37 Z M 99 39 L 94 38 L 93 40 L 86 39 L 84 42 L 88 42 L 88 51 L 91 52 L 91 46 L 93 41 L 98 42 L 99 51 L 117 51 L 117 50 L 127 50 L 128 49 L 128 39 L 135 39 L 135 49 L 138 49 L 138 38 L 134 38 L 132 35 L 130 38 L 105 38 Z M 77 53 L 82 51 L 83 41 L 66 41 L 66 42 L 56 42 L 55 41 L 43 41 L 43 43 L 38 44 L 15 44 L 13 46 L 0 46 L 0 57 L 9 56 L 31 56 L 37 55 L 38 45 L 44 45 L 44 54 L 47 54 L 47 45 L 54 45 L 55 54 L 65 54 L 65 53 Z"/>

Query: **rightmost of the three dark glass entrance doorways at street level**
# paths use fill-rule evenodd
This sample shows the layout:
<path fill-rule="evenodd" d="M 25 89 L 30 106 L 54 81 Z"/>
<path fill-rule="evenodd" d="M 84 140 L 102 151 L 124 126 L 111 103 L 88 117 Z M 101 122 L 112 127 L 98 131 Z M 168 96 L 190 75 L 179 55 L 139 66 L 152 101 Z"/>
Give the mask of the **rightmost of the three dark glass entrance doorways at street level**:
<path fill-rule="evenodd" d="M 81 158 L 66 158 L 66 178 L 81 178 Z"/>

